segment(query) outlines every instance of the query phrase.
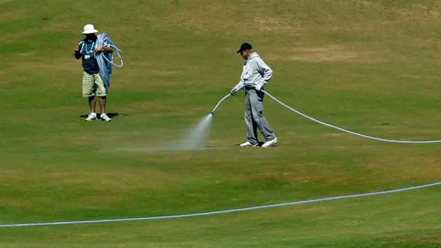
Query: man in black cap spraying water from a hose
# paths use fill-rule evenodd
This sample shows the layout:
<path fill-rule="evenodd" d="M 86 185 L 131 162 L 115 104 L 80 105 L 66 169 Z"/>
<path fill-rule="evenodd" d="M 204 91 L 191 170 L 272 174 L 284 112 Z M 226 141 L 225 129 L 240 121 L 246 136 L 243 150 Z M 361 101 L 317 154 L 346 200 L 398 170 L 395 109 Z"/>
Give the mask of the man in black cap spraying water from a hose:
<path fill-rule="evenodd" d="M 277 137 L 269 127 L 267 118 L 263 116 L 263 96 L 261 91 L 269 83 L 273 72 L 271 68 L 253 51 L 250 43 L 243 43 L 237 51 L 245 59 L 243 72 L 239 83 L 232 89 L 235 96 L 239 90 L 245 87 L 245 123 L 247 124 L 247 142 L 240 147 L 257 147 L 257 129 L 263 134 L 265 143 L 262 147 L 271 147 L 277 144 Z"/>

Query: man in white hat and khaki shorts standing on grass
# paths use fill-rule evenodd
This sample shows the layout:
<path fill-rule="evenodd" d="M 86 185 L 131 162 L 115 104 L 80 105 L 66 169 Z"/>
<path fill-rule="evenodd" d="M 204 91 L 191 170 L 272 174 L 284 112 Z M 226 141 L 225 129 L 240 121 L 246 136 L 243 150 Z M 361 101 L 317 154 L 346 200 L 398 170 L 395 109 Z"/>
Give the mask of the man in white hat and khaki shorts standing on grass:
<path fill-rule="evenodd" d="M 94 28 L 94 25 L 85 25 L 82 32 L 85 35 L 85 39 L 82 39 L 74 49 L 75 59 L 81 58 L 83 60 L 83 97 L 88 98 L 90 105 L 90 114 L 85 118 L 85 121 L 96 120 L 95 96 L 99 97 L 101 120 L 112 121 L 105 114 L 107 88 L 99 75 L 99 66 L 95 54 L 98 52 L 113 52 L 113 49 L 107 45 L 96 47 L 97 32 L 98 30 Z"/>

